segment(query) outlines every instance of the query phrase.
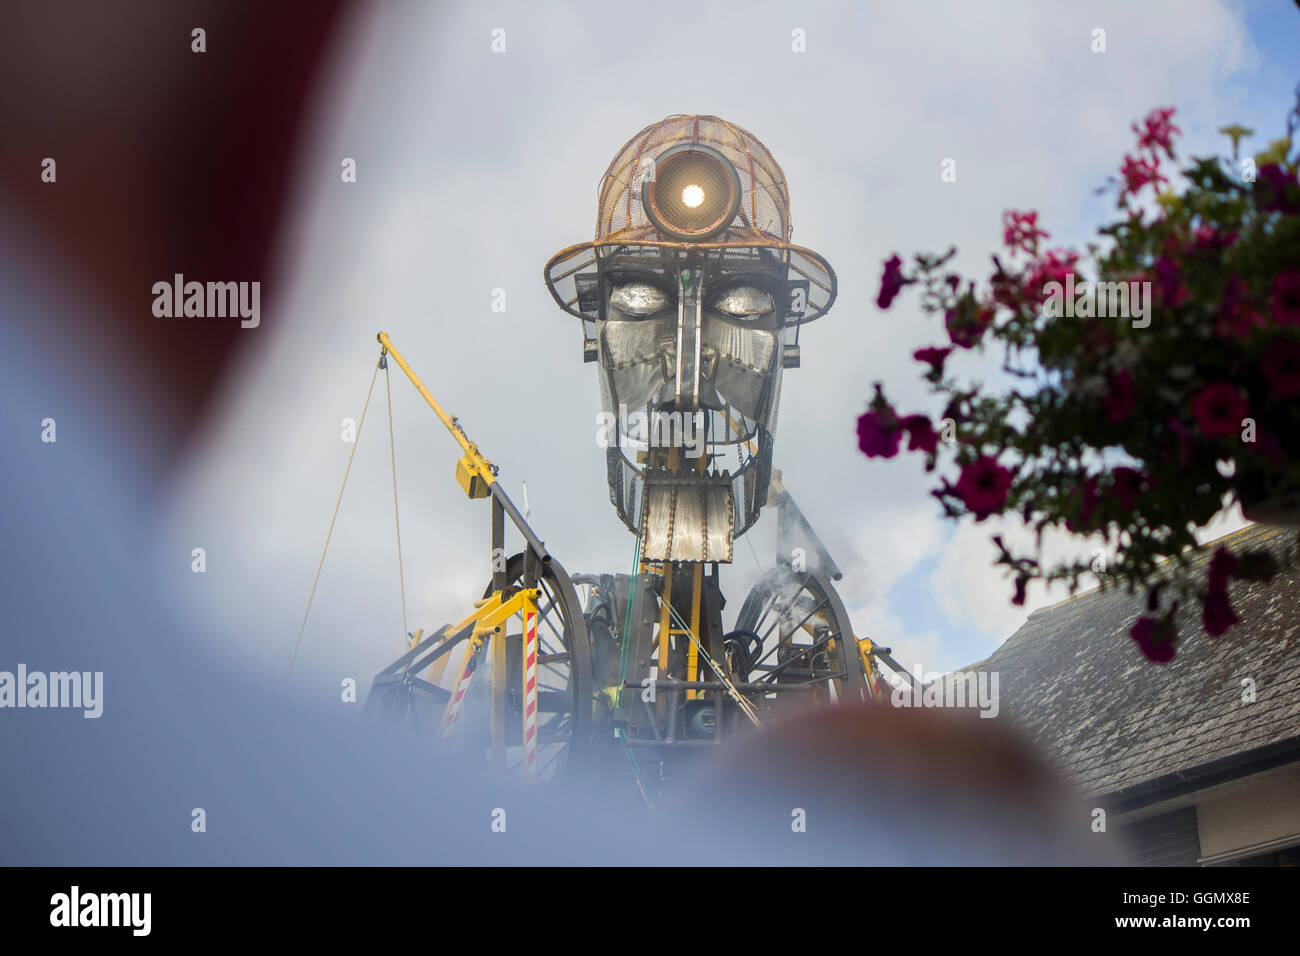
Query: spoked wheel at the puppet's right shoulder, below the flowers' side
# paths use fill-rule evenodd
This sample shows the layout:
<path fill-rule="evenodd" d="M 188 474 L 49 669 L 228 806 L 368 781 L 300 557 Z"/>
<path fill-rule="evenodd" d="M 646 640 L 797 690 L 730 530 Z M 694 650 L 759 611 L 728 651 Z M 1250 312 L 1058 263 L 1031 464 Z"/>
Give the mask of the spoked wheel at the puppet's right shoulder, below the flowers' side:
<path fill-rule="evenodd" d="M 831 583 L 815 571 L 777 567 L 764 575 L 741 606 L 727 657 L 741 680 L 806 684 L 815 702 L 868 696 L 849 614 Z M 766 702 L 803 696 L 776 693 Z"/>

